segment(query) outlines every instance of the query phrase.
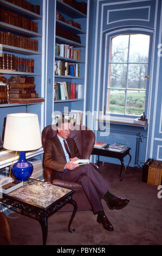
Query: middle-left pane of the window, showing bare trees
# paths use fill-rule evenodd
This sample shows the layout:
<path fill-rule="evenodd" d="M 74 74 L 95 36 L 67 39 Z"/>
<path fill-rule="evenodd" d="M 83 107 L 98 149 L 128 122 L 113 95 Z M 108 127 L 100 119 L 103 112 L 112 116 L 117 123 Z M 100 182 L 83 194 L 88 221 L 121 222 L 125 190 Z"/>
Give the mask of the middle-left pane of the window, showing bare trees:
<path fill-rule="evenodd" d="M 126 88 L 127 64 L 109 64 L 108 87 Z"/>

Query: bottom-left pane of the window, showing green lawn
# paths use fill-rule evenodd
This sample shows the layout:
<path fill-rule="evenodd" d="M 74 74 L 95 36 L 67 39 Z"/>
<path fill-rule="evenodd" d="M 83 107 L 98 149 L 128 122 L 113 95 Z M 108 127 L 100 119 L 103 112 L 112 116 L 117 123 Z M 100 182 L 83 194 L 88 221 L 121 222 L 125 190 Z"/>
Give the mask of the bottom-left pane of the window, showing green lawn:
<path fill-rule="evenodd" d="M 107 91 L 107 112 L 115 114 L 124 114 L 125 112 L 125 90 Z"/>

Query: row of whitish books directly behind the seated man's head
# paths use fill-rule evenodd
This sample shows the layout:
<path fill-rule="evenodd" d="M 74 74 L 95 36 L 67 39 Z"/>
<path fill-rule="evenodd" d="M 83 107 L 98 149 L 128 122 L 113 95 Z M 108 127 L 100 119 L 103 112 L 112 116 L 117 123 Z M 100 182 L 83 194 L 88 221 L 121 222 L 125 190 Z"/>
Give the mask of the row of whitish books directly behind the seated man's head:
<path fill-rule="evenodd" d="M 83 112 L 78 109 L 71 109 L 71 111 L 69 113 L 54 114 L 53 115 L 53 124 L 57 125 L 59 120 L 62 118 L 70 120 L 70 123 L 72 123 L 72 124 L 81 125 L 82 119 L 83 119 Z"/>

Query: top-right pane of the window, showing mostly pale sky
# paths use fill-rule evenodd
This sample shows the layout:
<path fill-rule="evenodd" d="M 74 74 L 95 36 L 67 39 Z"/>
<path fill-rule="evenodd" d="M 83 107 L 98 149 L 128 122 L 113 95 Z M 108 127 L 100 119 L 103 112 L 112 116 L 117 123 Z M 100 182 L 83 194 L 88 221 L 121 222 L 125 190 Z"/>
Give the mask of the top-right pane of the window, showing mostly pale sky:
<path fill-rule="evenodd" d="M 148 62 L 149 35 L 130 35 L 129 62 Z"/>

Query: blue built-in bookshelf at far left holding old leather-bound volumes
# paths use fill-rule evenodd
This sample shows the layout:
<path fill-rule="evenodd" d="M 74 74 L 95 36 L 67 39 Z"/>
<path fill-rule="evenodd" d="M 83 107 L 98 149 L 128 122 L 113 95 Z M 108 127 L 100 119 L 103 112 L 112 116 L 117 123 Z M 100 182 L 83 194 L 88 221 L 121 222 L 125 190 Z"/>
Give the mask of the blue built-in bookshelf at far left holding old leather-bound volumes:
<path fill-rule="evenodd" d="M 16 1 L 15 1 L 16 3 Z M 28 65 L 29 59 L 34 62 L 34 70 L 31 70 L 26 66 L 18 68 L 10 68 L 10 65 L 7 68 L 1 65 L 0 75 L 4 75 L 5 78 L 9 79 L 10 77 L 34 77 L 35 91 L 38 94 L 38 97 L 42 99 L 43 95 L 43 81 L 42 81 L 42 31 L 43 31 L 43 22 L 45 22 L 43 17 L 43 0 L 32 0 L 32 1 L 17 1 L 17 4 L 22 4 L 22 6 L 14 4 L 14 1 L 5 1 L 0 0 L 0 9 L 8 12 L 10 19 L 6 20 L 2 17 L 0 20 L 0 32 L 1 32 L 1 49 L 2 54 L 11 55 L 14 58 L 22 58 L 22 65 Z M 33 9 L 38 7 L 38 9 Z M 37 13 L 35 12 L 37 11 Z M 44 13 L 45 14 L 45 13 Z M 15 19 L 14 19 L 15 15 Z M 22 19 L 21 22 L 16 23 L 17 20 Z M 15 23 L 14 23 L 15 22 Z M 31 27 L 30 27 L 31 26 Z M 7 37 L 8 36 L 8 37 Z M 11 37 L 12 36 L 12 37 Z M 20 39 L 21 38 L 21 39 Z M 18 41 L 21 40 L 21 41 Z M 23 45 L 22 45 L 23 43 Z M 35 43 L 35 45 L 34 45 Z M 31 45 L 30 45 L 31 44 Z M 44 50 L 43 50 L 44 51 Z M 9 58 L 8 57 L 8 58 Z M 28 61 L 28 64 L 26 64 Z M 2 63 L 1 63 L 2 64 Z M 20 64 L 21 65 L 21 64 Z M 30 65 L 30 64 L 29 64 Z M 35 94 L 35 95 L 36 95 Z M 19 94 L 20 95 L 20 94 Z M 30 102 L 30 103 L 29 103 Z M 17 112 L 31 112 L 38 114 L 40 120 L 40 125 L 43 126 L 43 106 L 42 100 L 37 100 L 36 102 L 17 102 L 14 103 L 1 103 L 1 120 L 0 120 L 0 134 L 3 134 L 3 125 L 5 117 L 8 113 L 17 113 Z"/>

